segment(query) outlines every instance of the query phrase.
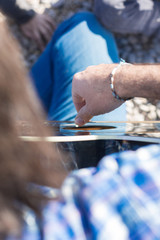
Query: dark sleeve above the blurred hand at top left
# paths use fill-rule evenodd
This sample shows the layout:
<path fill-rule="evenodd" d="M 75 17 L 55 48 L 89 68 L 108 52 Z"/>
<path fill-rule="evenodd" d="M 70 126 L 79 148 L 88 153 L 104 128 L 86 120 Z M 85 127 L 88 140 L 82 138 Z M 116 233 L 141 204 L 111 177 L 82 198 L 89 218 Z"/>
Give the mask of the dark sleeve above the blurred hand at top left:
<path fill-rule="evenodd" d="M 16 0 L 0 0 L 0 9 L 20 24 L 28 22 L 35 15 L 33 10 L 21 8 Z"/>

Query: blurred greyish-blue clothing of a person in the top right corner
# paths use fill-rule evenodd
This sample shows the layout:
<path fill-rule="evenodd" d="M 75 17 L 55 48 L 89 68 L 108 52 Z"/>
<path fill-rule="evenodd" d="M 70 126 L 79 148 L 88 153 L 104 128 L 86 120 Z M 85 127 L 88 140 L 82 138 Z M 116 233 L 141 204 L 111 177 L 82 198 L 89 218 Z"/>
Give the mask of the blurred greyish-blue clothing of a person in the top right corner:
<path fill-rule="evenodd" d="M 160 36 L 159 0 L 94 0 L 94 13 L 111 32 Z"/>

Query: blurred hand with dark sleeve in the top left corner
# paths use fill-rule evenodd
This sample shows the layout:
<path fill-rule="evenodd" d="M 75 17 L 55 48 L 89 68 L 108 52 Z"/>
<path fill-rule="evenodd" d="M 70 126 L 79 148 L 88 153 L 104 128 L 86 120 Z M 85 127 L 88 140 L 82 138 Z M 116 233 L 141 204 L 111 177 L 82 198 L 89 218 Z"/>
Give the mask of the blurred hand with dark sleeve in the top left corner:
<path fill-rule="evenodd" d="M 38 14 L 29 9 L 25 0 L 0 0 L 0 10 L 12 18 L 24 35 L 33 39 L 43 50 L 55 29 L 54 21 L 46 14 Z"/>

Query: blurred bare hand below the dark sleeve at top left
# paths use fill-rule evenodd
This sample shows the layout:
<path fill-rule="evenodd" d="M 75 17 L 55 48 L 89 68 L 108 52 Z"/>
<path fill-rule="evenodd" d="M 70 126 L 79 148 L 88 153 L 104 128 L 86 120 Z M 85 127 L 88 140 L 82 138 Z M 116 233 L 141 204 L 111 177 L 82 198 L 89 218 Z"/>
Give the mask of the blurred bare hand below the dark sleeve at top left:
<path fill-rule="evenodd" d="M 50 41 L 55 24 L 46 14 L 36 14 L 29 22 L 20 26 L 24 35 L 33 39 L 38 47 L 43 50 Z"/>

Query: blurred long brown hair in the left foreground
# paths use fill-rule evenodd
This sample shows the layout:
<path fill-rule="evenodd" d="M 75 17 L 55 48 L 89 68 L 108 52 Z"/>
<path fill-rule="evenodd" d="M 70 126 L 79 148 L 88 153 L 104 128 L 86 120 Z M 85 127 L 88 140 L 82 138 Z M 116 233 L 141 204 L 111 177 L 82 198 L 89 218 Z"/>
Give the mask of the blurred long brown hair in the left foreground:
<path fill-rule="evenodd" d="M 0 238 L 19 232 L 23 206 L 40 216 L 45 203 L 29 183 L 59 187 L 65 171 L 51 143 L 25 142 L 21 134 L 45 137 L 45 115 L 35 96 L 15 39 L 0 24 Z"/>

